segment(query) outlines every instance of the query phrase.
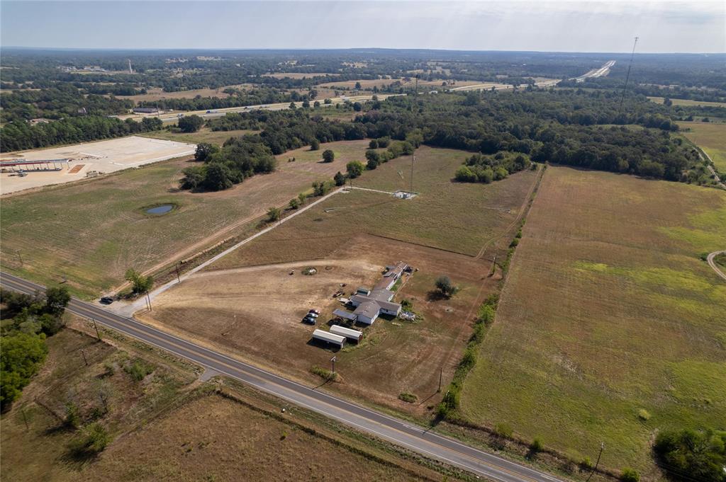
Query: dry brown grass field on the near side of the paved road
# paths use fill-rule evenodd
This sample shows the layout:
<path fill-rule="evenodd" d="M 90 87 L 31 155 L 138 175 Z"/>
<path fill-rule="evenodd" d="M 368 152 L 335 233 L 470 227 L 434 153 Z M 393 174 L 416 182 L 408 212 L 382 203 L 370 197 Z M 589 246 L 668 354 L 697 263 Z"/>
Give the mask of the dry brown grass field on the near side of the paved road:
<path fill-rule="evenodd" d="M 115 338 L 112 346 L 67 329 L 49 338 L 48 344 L 49 357 L 41 372 L 0 419 L 4 481 L 443 477 L 333 420 L 297 407 L 282 416 L 283 402 L 250 388 L 227 382 L 200 385 L 191 367 L 151 349 L 139 352 L 126 338 Z M 140 381 L 125 369 L 134 362 L 150 370 Z M 101 393 L 108 394 L 107 412 L 100 410 Z M 78 432 L 62 425 L 69 400 L 80 407 L 82 425 L 97 420 L 110 433 L 111 442 L 99 455 L 77 457 L 70 452 Z"/>

